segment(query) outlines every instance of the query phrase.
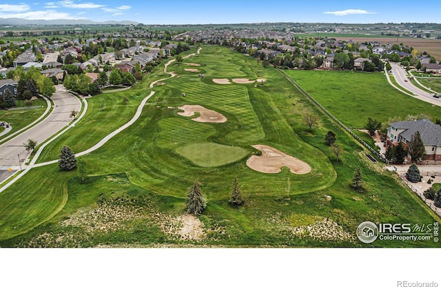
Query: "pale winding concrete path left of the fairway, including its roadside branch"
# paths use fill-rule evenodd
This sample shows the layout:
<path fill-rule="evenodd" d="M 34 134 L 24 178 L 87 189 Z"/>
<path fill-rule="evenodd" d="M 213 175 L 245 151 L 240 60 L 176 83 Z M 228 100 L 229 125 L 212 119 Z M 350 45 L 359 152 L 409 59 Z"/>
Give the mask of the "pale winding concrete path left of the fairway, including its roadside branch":
<path fill-rule="evenodd" d="M 197 53 L 199 54 L 200 51 L 201 51 L 201 48 L 198 48 L 198 52 Z M 195 55 L 195 54 L 188 55 L 185 58 L 188 58 L 188 57 L 193 56 L 193 55 Z M 164 78 L 164 79 L 158 79 L 158 80 L 150 83 L 150 88 L 153 88 L 154 84 L 158 83 L 159 81 L 164 81 L 164 80 L 167 80 L 167 79 L 171 79 L 172 77 L 176 77 L 176 74 L 174 74 L 174 72 L 167 72 L 167 67 L 173 61 L 176 61 L 176 59 L 172 59 L 172 60 L 168 61 L 165 64 L 165 66 L 164 66 L 164 72 L 169 74 L 171 77 Z M 101 139 L 101 141 L 99 141 L 99 143 L 96 143 L 96 145 L 92 146 L 92 148 L 89 148 L 88 150 L 84 150 L 83 152 L 78 152 L 78 153 L 75 154 L 75 156 L 76 157 L 81 157 L 82 155 L 87 155 L 90 152 L 93 152 L 94 150 L 97 150 L 97 149 L 101 148 L 105 143 L 107 143 L 107 141 L 112 139 L 112 137 L 118 135 L 119 132 L 125 130 L 129 126 L 132 126 L 132 124 L 135 123 L 135 121 L 137 119 L 139 119 L 139 117 L 141 116 L 141 113 L 143 112 L 143 108 L 145 106 L 145 103 L 147 103 L 147 100 L 150 99 L 150 97 L 152 97 L 153 95 L 154 95 L 154 91 L 150 92 L 150 94 L 147 95 L 147 97 L 145 97 L 143 99 L 143 101 L 141 101 L 141 103 L 138 106 L 138 109 L 135 112 L 135 115 L 132 117 L 132 119 L 130 119 L 130 121 L 128 121 L 123 126 L 118 128 L 117 130 L 114 130 L 114 132 L 111 132 L 109 135 L 107 135 L 106 137 Z M 83 99 L 83 101 L 85 102 L 85 108 L 84 108 L 83 112 L 81 113 L 81 116 L 78 119 L 76 119 L 77 121 L 79 119 L 81 119 L 85 115 L 85 111 L 87 110 L 87 101 L 85 101 L 85 99 Z M 74 125 L 72 125 L 72 126 L 74 126 Z M 70 126 L 69 128 L 72 128 L 72 126 Z M 65 129 L 65 130 L 67 130 L 67 129 Z M 65 130 L 63 130 L 63 132 L 65 132 Z M 61 135 L 63 132 L 61 132 L 59 135 Z M 57 137 L 59 137 L 59 135 L 57 135 Z M 37 168 L 39 166 L 47 166 L 49 164 L 56 164 L 58 162 L 58 160 L 45 161 L 45 162 L 40 163 L 40 164 L 35 164 L 35 162 L 37 161 L 37 159 L 38 159 L 39 155 L 41 154 L 41 151 L 43 150 L 43 148 L 45 148 L 45 146 L 47 146 L 51 141 L 53 141 L 57 137 L 52 138 L 50 141 L 46 142 L 43 146 L 41 146 L 41 148 L 39 148 L 39 150 L 37 151 L 36 155 L 34 156 L 32 161 L 30 162 L 29 166 L 25 166 L 25 170 L 23 170 L 23 172 L 21 172 L 17 177 L 14 177 L 14 179 L 12 179 L 10 182 L 8 182 L 8 184 L 6 184 L 2 188 L 0 188 L 0 192 L 2 192 L 3 190 L 6 190 L 6 188 L 8 188 L 12 184 L 14 184 L 17 180 L 19 180 L 21 177 L 23 177 L 23 175 L 25 175 L 30 169 Z"/>

